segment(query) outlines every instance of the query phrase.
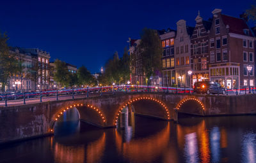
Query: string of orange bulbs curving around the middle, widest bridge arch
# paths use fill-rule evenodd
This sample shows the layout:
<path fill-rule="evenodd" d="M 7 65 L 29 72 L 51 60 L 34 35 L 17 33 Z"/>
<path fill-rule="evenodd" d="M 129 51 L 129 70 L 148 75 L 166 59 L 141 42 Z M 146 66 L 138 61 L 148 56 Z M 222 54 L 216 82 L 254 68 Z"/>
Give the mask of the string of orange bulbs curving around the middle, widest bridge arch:
<path fill-rule="evenodd" d="M 129 102 L 125 103 L 124 106 L 122 106 L 120 108 L 120 110 L 118 110 L 118 113 L 116 114 L 116 118 L 115 118 L 115 125 L 117 124 L 118 121 L 118 117 L 120 115 L 120 113 L 122 112 L 122 110 L 128 105 L 128 104 L 132 104 L 135 101 L 139 101 L 139 100 L 150 100 L 150 101 L 155 101 L 157 103 L 159 103 L 161 106 L 163 106 L 164 110 L 166 111 L 166 115 L 168 117 L 168 120 L 170 120 L 170 113 L 168 108 L 166 107 L 166 104 L 164 104 L 162 101 L 159 101 L 158 99 L 154 99 L 152 97 L 138 97 L 136 99 L 131 99 Z"/>

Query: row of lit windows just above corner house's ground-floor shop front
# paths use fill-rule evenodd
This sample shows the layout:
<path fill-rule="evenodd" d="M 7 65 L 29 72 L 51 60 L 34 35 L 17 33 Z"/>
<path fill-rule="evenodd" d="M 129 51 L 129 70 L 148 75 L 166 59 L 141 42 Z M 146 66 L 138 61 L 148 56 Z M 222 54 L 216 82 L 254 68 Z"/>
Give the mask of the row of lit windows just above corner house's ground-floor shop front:
<path fill-rule="evenodd" d="M 211 76 L 225 76 L 225 75 L 238 76 L 239 71 L 238 71 L 238 67 L 218 67 L 215 69 L 211 69 L 210 75 Z"/>

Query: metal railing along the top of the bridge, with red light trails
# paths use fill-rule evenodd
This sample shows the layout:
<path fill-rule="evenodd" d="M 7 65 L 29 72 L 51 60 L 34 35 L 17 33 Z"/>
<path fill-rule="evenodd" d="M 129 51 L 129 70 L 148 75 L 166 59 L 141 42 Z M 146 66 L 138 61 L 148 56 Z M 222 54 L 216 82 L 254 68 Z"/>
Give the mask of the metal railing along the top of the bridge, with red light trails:
<path fill-rule="evenodd" d="M 0 100 L 5 106 L 7 101 L 20 102 L 26 104 L 26 101 L 38 100 L 56 97 L 74 97 L 76 96 L 102 96 L 102 94 L 116 94 L 116 93 L 130 93 L 130 92 L 165 92 L 173 94 L 193 94 L 193 89 L 189 87 L 163 87 L 159 85 L 111 85 L 105 87 L 81 87 L 68 89 L 51 89 L 51 90 L 37 90 L 36 92 L 9 92 L 0 94 Z M 256 87 L 241 87 L 239 89 L 226 89 L 226 96 L 256 94 Z M 0 104 L 1 104 L 0 103 Z"/>

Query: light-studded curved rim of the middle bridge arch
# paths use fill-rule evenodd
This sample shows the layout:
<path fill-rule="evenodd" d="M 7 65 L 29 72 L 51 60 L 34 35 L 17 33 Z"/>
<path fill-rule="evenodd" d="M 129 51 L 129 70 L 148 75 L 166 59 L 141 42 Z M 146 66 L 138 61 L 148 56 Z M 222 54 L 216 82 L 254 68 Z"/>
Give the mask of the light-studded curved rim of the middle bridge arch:
<path fill-rule="evenodd" d="M 116 125 L 116 123 L 118 122 L 118 117 L 120 115 L 120 113 L 122 112 L 122 110 L 128 106 L 129 104 L 132 104 L 136 101 L 141 101 L 141 100 L 148 100 L 148 101 L 153 101 L 157 104 L 159 104 L 164 112 L 166 113 L 166 119 L 170 120 L 170 110 L 167 108 L 166 104 L 164 104 L 163 101 L 159 100 L 159 99 L 156 99 L 154 97 L 147 97 L 147 96 L 144 96 L 144 97 L 134 97 L 134 98 L 131 98 L 129 99 L 129 101 L 126 101 L 125 103 L 123 103 L 119 108 L 118 108 L 118 111 L 116 111 L 115 113 L 115 119 L 114 119 L 114 125 Z"/>

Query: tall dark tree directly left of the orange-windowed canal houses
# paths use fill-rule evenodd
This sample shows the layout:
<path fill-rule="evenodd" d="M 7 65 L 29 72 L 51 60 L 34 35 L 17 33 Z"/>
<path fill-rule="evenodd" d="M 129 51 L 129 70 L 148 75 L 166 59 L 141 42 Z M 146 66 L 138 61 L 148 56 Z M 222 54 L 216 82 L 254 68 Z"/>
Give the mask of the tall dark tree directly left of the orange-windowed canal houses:
<path fill-rule="evenodd" d="M 161 71 L 161 39 L 157 31 L 153 29 L 143 29 L 141 32 L 141 42 L 138 45 L 138 53 L 142 58 L 142 68 L 148 83 L 150 76 L 155 75 L 156 71 Z"/>

